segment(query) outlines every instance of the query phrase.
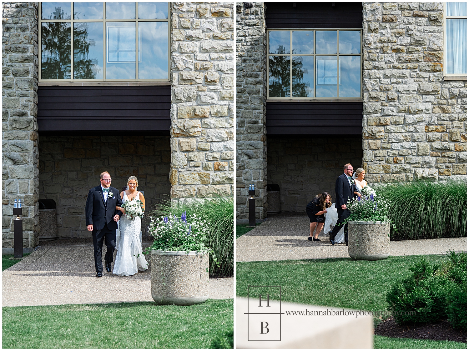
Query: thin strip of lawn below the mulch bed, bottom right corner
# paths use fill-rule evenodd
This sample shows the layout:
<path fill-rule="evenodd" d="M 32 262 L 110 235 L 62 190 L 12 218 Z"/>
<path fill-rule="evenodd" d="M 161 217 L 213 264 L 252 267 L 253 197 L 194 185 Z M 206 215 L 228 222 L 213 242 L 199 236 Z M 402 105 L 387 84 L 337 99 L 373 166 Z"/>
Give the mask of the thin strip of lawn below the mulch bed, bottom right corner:
<path fill-rule="evenodd" d="M 375 335 L 375 349 L 467 349 L 467 344 Z"/>

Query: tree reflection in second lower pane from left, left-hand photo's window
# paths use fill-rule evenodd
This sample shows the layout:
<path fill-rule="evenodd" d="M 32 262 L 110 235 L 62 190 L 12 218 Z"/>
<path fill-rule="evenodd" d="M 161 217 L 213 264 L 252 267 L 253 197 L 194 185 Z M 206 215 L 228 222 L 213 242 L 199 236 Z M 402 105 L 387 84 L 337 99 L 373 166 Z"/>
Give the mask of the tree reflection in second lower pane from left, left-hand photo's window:
<path fill-rule="evenodd" d="M 98 65 L 98 59 L 92 59 L 89 56 L 90 46 L 96 46 L 96 42 L 94 39 L 88 39 L 88 24 L 80 23 L 78 27 L 73 28 L 73 73 L 75 79 L 96 79 L 93 67 Z"/>

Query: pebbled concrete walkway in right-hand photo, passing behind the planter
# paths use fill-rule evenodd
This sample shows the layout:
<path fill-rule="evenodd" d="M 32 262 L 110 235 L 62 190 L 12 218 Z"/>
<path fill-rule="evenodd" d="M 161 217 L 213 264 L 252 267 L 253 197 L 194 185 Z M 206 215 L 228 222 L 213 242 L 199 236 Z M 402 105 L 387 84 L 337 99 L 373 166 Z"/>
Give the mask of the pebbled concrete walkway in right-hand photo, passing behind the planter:
<path fill-rule="evenodd" d="M 303 213 L 269 217 L 255 229 L 236 239 L 236 261 L 281 261 L 343 258 L 345 244 L 334 246 L 329 235 L 319 233 L 322 241 L 308 241 L 310 220 Z M 445 254 L 449 250 L 467 251 L 467 238 L 391 241 L 391 255 Z"/>

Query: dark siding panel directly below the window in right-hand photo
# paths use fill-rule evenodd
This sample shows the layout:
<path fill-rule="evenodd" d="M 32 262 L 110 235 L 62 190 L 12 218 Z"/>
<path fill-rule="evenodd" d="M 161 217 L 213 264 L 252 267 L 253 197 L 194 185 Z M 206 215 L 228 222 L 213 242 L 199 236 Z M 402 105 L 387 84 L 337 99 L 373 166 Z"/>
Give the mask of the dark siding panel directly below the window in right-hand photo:
<path fill-rule="evenodd" d="M 361 102 L 267 103 L 267 134 L 362 134 Z"/>

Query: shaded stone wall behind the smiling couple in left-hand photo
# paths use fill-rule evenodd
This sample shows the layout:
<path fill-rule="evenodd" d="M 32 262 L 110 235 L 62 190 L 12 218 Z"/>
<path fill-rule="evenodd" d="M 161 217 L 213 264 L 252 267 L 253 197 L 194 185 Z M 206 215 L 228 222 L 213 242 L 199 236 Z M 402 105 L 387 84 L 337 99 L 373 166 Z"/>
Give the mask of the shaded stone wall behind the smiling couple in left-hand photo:
<path fill-rule="evenodd" d="M 170 162 L 169 136 L 41 136 L 39 198 L 56 202 L 59 238 L 91 237 L 84 209 L 101 172 L 111 174 L 119 191 L 136 176 L 149 210 L 159 199 L 169 199 Z"/>

